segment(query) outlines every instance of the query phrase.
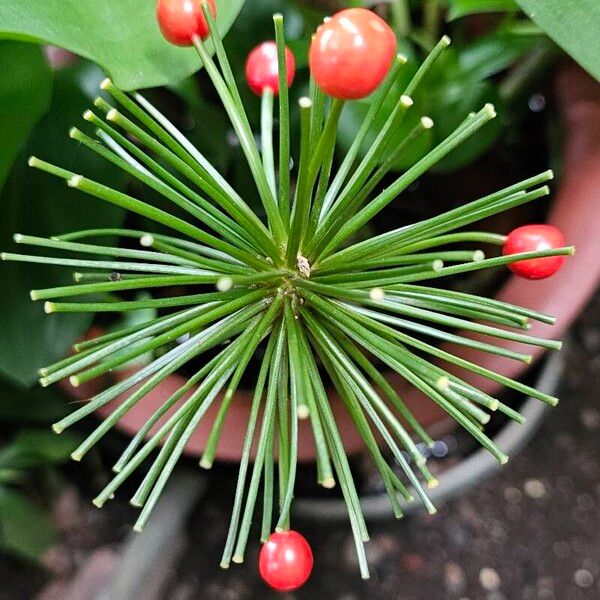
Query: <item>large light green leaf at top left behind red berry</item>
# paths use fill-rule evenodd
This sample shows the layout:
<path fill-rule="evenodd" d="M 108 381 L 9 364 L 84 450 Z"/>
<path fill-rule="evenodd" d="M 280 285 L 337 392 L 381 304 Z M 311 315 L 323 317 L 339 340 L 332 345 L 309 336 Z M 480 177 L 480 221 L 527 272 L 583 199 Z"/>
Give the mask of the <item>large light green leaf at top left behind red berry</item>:
<path fill-rule="evenodd" d="M 224 35 L 244 0 L 216 0 Z M 0 0 L 0 36 L 66 48 L 99 64 L 123 89 L 174 83 L 201 67 L 193 49 L 161 35 L 154 0 Z"/>

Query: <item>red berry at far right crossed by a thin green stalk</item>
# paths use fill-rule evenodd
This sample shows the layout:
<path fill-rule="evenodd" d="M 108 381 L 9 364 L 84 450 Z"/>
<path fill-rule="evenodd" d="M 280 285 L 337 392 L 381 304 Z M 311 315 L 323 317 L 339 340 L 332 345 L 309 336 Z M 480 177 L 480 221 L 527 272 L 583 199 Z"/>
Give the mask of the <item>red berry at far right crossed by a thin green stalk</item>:
<path fill-rule="evenodd" d="M 520 252 L 537 252 L 562 248 L 565 238 L 554 225 L 524 225 L 512 231 L 504 242 L 502 254 L 509 256 Z M 565 262 L 564 256 L 547 256 L 520 260 L 508 265 L 508 268 L 525 279 L 545 279 L 554 275 Z"/>

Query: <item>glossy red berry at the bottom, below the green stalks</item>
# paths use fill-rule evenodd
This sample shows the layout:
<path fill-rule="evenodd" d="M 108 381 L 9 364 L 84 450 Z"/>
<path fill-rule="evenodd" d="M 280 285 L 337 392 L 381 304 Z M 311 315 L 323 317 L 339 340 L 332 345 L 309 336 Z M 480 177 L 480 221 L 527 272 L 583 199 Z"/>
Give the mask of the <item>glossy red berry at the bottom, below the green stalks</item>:
<path fill-rule="evenodd" d="M 272 534 L 258 560 L 260 576 L 278 592 L 297 590 L 310 577 L 312 565 L 312 550 L 297 531 Z"/>

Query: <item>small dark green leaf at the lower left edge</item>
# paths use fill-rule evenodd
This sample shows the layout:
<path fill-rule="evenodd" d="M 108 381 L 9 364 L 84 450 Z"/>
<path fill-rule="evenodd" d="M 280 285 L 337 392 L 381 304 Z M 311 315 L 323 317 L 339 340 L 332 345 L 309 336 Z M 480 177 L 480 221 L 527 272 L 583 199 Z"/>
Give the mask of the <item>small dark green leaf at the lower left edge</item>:
<path fill-rule="evenodd" d="M 0 550 L 37 561 L 54 539 L 48 513 L 21 492 L 0 487 Z"/>

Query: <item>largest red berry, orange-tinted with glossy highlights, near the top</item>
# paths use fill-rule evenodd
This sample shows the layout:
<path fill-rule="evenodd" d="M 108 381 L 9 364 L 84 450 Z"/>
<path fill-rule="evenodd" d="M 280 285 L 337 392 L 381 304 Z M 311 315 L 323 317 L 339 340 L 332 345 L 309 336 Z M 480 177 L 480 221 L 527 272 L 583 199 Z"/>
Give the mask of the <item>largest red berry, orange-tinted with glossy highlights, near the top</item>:
<path fill-rule="evenodd" d="M 396 36 L 383 19 L 365 8 L 348 8 L 317 29 L 308 60 L 325 93 L 352 100 L 379 86 L 395 54 Z"/>

